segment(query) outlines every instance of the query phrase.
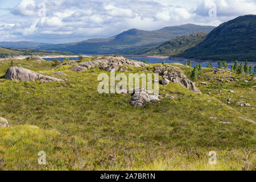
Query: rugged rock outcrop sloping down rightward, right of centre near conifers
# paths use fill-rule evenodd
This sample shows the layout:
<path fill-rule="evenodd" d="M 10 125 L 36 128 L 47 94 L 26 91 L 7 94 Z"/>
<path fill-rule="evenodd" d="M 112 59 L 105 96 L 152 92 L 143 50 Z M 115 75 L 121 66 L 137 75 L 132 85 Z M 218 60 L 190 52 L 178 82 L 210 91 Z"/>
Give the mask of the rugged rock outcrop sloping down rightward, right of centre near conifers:
<path fill-rule="evenodd" d="M 158 73 L 163 77 L 163 80 L 160 81 L 160 84 L 168 85 L 169 82 L 172 81 L 184 86 L 192 92 L 201 93 L 201 91 L 196 88 L 196 84 L 189 80 L 187 76 L 184 75 L 183 71 L 181 71 L 179 68 L 174 68 L 170 65 L 164 65 L 161 67 L 154 67 L 154 73 Z"/>

